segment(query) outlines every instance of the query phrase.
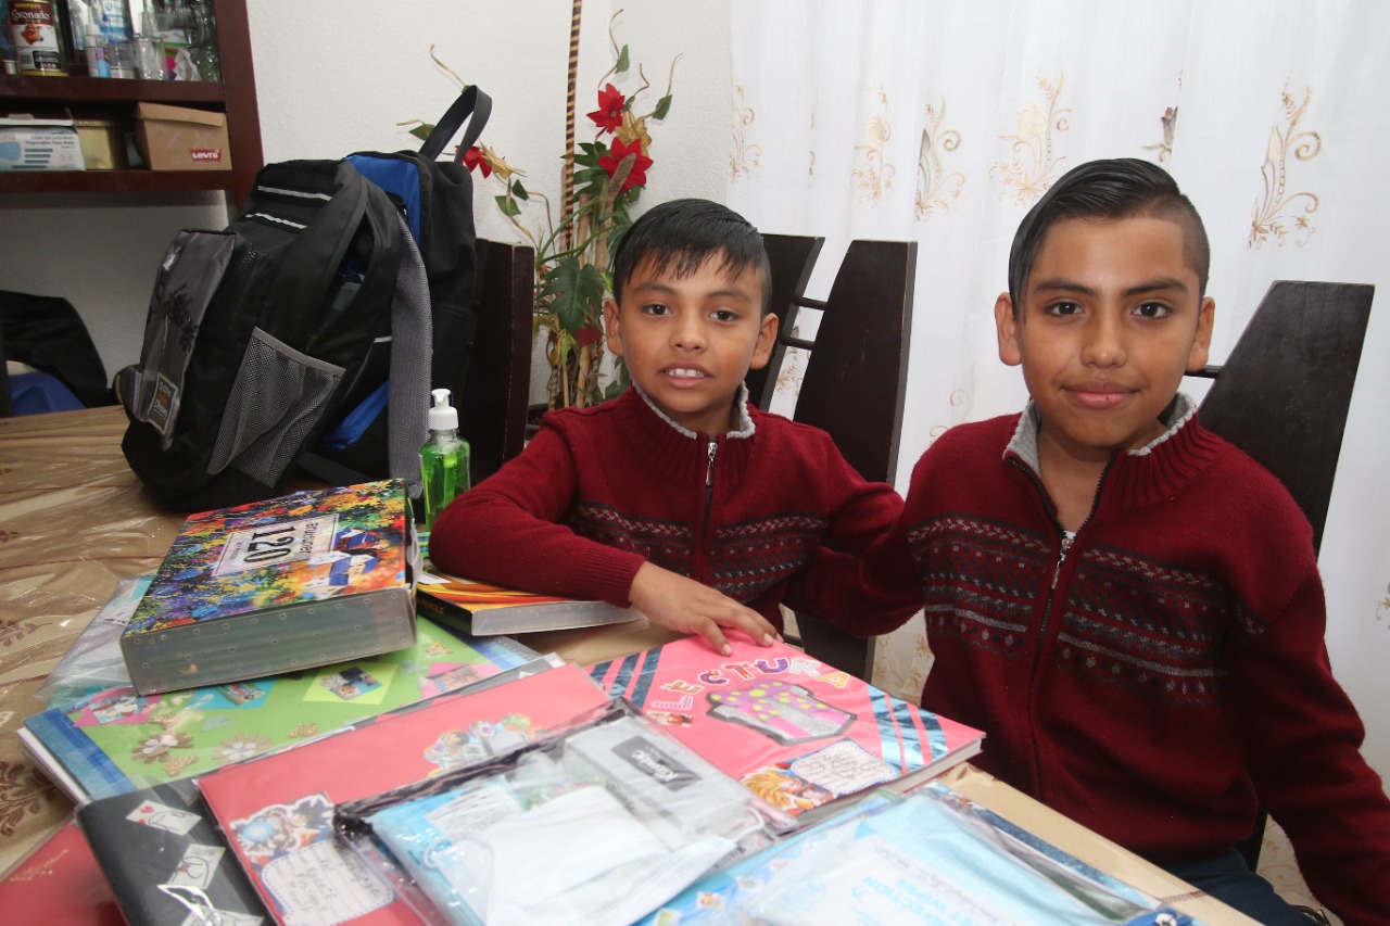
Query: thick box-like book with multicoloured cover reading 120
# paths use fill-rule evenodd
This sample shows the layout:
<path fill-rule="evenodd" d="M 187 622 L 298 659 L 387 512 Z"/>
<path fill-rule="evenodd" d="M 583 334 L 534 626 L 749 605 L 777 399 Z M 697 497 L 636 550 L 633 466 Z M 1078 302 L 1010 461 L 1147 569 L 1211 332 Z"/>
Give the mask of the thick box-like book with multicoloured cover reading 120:
<path fill-rule="evenodd" d="M 121 634 L 140 694 L 260 679 L 414 642 L 400 480 L 193 514 Z"/>

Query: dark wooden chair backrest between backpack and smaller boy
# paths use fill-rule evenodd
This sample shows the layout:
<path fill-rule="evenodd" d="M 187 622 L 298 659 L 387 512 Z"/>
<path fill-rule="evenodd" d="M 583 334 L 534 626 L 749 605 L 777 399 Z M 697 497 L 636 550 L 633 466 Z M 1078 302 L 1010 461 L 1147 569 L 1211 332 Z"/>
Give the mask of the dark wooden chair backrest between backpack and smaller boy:
<path fill-rule="evenodd" d="M 535 250 L 482 239 L 477 250 L 478 327 L 466 381 L 455 389 L 459 432 L 468 441 L 475 484 L 525 444 L 535 307 Z"/>

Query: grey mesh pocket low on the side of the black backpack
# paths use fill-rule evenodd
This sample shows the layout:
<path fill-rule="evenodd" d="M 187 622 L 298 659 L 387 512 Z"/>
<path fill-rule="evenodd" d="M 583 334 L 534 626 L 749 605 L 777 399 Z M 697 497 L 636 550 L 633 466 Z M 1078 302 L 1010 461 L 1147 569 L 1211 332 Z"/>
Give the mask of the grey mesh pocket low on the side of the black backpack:
<path fill-rule="evenodd" d="M 275 485 L 318 424 L 343 368 L 252 332 L 207 471 L 228 466 Z"/>

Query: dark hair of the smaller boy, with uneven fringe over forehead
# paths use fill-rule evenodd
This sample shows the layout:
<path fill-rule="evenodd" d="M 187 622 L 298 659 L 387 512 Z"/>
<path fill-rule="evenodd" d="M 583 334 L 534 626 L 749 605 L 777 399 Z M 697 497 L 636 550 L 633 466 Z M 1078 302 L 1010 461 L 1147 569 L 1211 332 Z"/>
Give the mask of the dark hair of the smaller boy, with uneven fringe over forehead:
<path fill-rule="evenodd" d="M 632 222 L 613 254 L 613 298 L 621 300 L 623 286 L 642 261 L 680 278 L 698 271 L 714 254 L 723 254 L 720 270 L 758 274 L 766 316 L 771 307 L 771 268 L 763 236 L 746 218 L 708 199 L 673 199 Z"/>

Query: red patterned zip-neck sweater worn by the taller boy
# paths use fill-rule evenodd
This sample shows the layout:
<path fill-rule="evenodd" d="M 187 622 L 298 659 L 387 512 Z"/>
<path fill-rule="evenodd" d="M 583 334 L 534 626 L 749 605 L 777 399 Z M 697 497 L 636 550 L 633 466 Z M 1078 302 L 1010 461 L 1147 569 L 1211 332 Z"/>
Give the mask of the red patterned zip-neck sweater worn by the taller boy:
<path fill-rule="evenodd" d="M 1068 545 L 1036 446 L 1029 414 L 944 434 L 865 563 L 924 595 L 923 705 L 987 731 L 980 766 L 1159 863 L 1230 850 L 1262 805 L 1320 902 L 1390 923 L 1390 801 L 1289 492 L 1193 417 L 1112 460 Z"/>

